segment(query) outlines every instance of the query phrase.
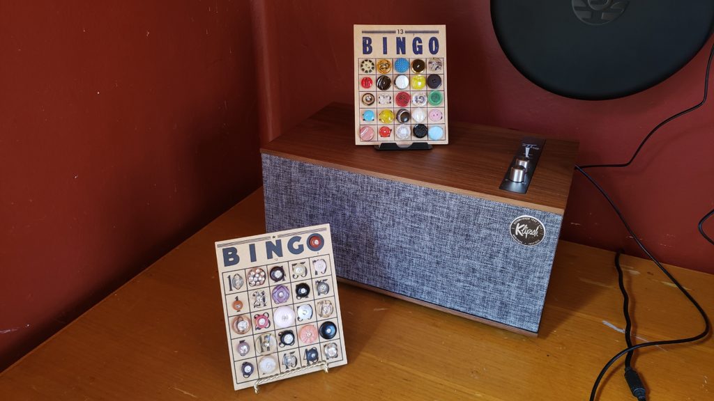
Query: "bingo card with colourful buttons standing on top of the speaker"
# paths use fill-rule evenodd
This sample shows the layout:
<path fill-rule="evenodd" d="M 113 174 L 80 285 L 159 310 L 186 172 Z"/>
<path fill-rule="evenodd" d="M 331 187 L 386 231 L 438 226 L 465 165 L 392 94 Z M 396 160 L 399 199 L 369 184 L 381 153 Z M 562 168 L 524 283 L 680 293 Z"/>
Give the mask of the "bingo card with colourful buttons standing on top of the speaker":
<path fill-rule="evenodd" d="M 448 143 L 445 25 L 355 25 L 355 143 Z"/>

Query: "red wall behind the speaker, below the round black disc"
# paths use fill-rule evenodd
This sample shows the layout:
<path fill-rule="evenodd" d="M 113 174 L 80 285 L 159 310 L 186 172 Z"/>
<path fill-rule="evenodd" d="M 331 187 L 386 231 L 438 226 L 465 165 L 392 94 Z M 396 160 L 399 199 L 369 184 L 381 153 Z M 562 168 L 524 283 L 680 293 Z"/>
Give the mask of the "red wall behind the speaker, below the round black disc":
<path fill-rule="evenodd" d="M 675 76 L 613 101 L 578 101 L 521 76 L 501 51 L 488 1 L 281 1 L 266 5 L 261 44 L 274 69 L 266 138 L 330 101 L 353 103 L 353 24 L 446 24 L 449 117 L 580 141 L 578 163 L 627 161 L 657 123 L 700 101 L 713 41 Z M 712 84 L 711 86 L 714 86 Z M 592 171 L 645 245 L 666 263 L 714 273 L 696 224 L 714 208 L 714 103 L 661 129 L 626 170 Z M 276 116 L 279 118 L 276 118 Z M 714 236 L 714 218 L 705 225 Z M 576 175 L 565 240 L 641 255 L 609 205 Z"/>

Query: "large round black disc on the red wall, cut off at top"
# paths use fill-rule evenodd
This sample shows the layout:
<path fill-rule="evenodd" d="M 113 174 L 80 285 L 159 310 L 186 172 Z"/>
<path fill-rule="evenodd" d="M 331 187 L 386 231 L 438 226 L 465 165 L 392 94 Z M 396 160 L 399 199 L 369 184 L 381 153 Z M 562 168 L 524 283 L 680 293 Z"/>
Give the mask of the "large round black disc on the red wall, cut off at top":
<path fill-rule="evenodd" d="M 664 81 L 701 49 L 713 0 L 491 0 L 503 51 L 569 98 L 619 98 Z"/>

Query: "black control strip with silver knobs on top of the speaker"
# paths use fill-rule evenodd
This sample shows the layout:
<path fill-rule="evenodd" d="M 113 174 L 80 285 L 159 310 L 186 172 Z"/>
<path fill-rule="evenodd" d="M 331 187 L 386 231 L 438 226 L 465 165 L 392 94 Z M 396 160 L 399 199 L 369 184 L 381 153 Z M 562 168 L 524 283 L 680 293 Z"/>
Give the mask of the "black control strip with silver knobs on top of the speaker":
<path fill-rule="evenodd" d="M 511 165 L 506 170 L 501 186 L 504 191 L 526 193 L 531 184 L 535 166 L 538 166 L 540 153 L 543 153 L 545 139 L 526 137 L 521 141 L 521 146 L 513 156 Z"/>

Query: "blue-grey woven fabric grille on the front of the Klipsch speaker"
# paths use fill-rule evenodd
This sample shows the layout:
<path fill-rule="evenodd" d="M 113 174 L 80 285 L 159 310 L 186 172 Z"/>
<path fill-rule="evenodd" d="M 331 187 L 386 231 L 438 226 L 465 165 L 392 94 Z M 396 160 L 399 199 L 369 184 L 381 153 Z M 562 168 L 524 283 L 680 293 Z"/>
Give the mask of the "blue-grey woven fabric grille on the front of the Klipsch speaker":
<path fill-rule="evenodd" d="M 562 216 L 266 154 L 263 186 L 268 232 L 330 223 L 339 277 L 538 332 Z"/>

